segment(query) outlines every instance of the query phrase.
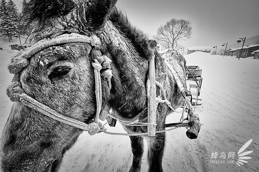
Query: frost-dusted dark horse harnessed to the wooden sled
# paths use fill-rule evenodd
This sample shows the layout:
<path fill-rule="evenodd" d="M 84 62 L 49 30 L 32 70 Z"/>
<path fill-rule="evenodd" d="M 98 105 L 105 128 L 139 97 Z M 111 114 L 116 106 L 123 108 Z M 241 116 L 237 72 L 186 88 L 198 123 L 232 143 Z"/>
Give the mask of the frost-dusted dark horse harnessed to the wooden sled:
<path fill-rule="evenodd" d="M 26 40 L 27 48 L 13 57 L 8 67 L 15 73 L 13 81 L 19 82 L 12 82 L 7 88 L 7 95 L 15 102 L 1 135 L 3 172 L 58 171 L 66 151 L 83 132 L 24 105 L 21 99 L 12 96 L 15 89 L 11 87 L 22 88 L 22 93 L 37 102 L 85 124 L 95 118 L 98 104 L 100 112 L 111 107 L 118 116 L 129 120 L 146 107 L 148 62 L 153 50 L 146 34 L 132 26 L 115 4 L 116 0 L 28 2 L 22 13 L 34 29 Z M 100 104 L 95 94 L 97 83 L 92 62 L 102 56 L 110 59 L 112 76 L 100 79 Z M 165 57 L 173 60 L 186 87 L 184 57 L 175 50 L 165 53 Z M 165 94 L 176 109 L 183 105 L 184 97 L 176 79 L 165 68 Z M 100 69 L 101 73 L 104 71 L 107 70 Z M 166 103 L 158 103 L 157 131 L 165 129 L 165 118 L 172 112 Z M 123 127 L 128 133 L 147 132 L 146 126 Z M 165 132 L 129 137 L 133 153 L 129 172 L 141 169 L 143 138 L 149 145 L 149 171 L 163 171 Z"/>

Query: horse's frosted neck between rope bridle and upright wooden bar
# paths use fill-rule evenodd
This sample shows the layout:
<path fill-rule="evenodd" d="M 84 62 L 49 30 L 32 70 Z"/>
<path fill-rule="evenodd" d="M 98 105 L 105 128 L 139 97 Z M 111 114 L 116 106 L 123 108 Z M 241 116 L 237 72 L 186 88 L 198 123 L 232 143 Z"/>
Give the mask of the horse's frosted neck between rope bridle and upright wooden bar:
<path fill-rule="evenodd" d="M 133 117 L 146 103 L 148 62 L 111 22 L 101 33 L 112 56 L 112 89 L 109 104 L 123 117 Z"/>

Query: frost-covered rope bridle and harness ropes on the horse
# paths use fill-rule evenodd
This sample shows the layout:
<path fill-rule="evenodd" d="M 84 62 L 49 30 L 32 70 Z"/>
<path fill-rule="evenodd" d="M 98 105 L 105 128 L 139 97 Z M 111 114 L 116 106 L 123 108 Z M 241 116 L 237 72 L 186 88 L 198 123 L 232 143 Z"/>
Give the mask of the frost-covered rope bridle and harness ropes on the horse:
<path fill-rule="evenodd" d="M 10 73 L 14 74 L 14 77 L 12 79 L 12 83 L 7 87 L 7 95 L 9 96 L 11 101 L 20 102 L 54 120 L 57 120 L 64 124 L 68 124 L 68 125 L 74 126 L 76 128 L 80 128 L 82 130 L 88 131 L 90 135 L 94 135 L 94 134 L 100 133 L 100 132 L 104 132 L 106 134 L 114 134 L 111 132 L 106 132 L 106 129 L 104 128 L 104 126 L 102 126 L 102 124 L 98 121 L 98 118 L 99 118 L 100 112 L 101 112 L 101 106 L 102 106 L 101 76 L 104 79 L 107 79 L 108 87 L 109 87 L 109 89 L 111 89 L 111 77 L 112 77 L 112 71 L 111 71 L 111 65 L 110 65 L 111 59 L 109 59 L 105 55 L 97 56 L 96 58 L 93 59 L 94 62 L 92 62 L 92 66 L 94 67 L 94 76 L 95 76 L 95 89 L 96 89 L 95 94 L 96 94 L 97 109 L 96 109 L 96 116 L 94 117 L 94 120 L 89 124 L 85 124 L 84 122 L 81 122 L 81 121 L 75 120 L 73 118 L 70 118 L 68 116 L 64 116 L 63 114 L 60 114 L 56 110 L 53 110 L 50 107 L 48 107 L 48 106 L 40 103 L 39 101 L 33 99 L 32 97 L 28 96 L 25 93 L 25 91 L 22 89 L 22 84 L 20 82 L 20 71 L 22 71 L 22 69 L 29 64 L 29 62 L 27 60 L 28 58 L 35 55 L 37 52 L 40 52 L 44 48 L 47 48 L 50 46 L 55 46 L 55 45 L 60 45 L 60 44 L 65 44 L 65 43 L 71 43 L 71 42 L 89 43 L 92 47 L 94 47 L 93 49 L 100 50 L 101 41 L 100 41 L 100 38 L 98 38 L 95 35 L 84 36 L 81 34 L 72 33 L 72 34 L 63 34 L 61 36 L 57 36 L 56 38 L 51 38 L 51 39 L 45 38 L 45 39 L 33 44 L 33 46 L 31 46 L 31 47 L 28 47 L 25 50 L 21 50 L 14 57 L 11 58 L 11 63 L 8 65 L 8 69 L 9 69 Z M 102 74 L 100 74 L 100 71 L 102 69 L 103 69 Z M 174 75 L 174 73 L 173 73 L 173 75 Z M 178 82 L 179 78 L 178 79 L 177 79 L 177 77 L 175 77 L 175 78 L 176 78 L 176 81 Z M 162 85 L 159 82 L 157 82 L 157 86 L 162 90 L 162 97 L 163 97 L 163 99 L 160 99 L 158 103 L 167 103 L 167 105 L 170 107 L 171 106 L 170 102 L 165 97 L 165 91 L 164 91 Z M 150 87 L 148 86 L 147 89 L 148 88 L 150 88 Z M 182 89 L 181 89 L 181 91 L 182 91 Z M 188 104 L 189 101 L 187 101 L 187 98 L 188 97 L 186 96 L 185 102 L 191 109 L 192 106 L 190 104 Z M 172 106 L 170 108 L 173 109 Z M 116 120 L 119 120 L 114 116 L 111 116 L 111 117 L 115 118 Z M 190 117 L 191 117 L 191 115 L 190 115 Z M 194 118 L 192 120 L 194 120 Z M 195 120 L 199 120 L 197 115 L 195 116 Z M 120 121 L 122 122 L 122 124 L 125 124 L 125 125 L 127 124 L 127 121 L 122 121 L 122 120 L 120 120 Z M 192 122 L 192 121 L 189 119 L 189 123 L 177 124 L 175 128 L 171 128 L 169 130 L 173 130 L 173 129 L 176 129 L 176 128 L 182 127 L 182 126 L 187 127 L 187 126 L 189 126 L 190 122 Z M 134 122 L 134 123 L 138 123 L 138 124 L 132 124 L 133 126 L 134 125 L 140 125 L 140 126 L 157 125 L 154 123 L 141 123 L 141 122 Z M 195 131 L 196 135 L 198 135 L 199 128 L 200 128 L 200 126 L 198 127 L 198 131 L 197 130 Z M 189 130 L 191 130 L 191 129 L 189 129 Z M 157 132 L 165 132 L 165 131 L 168 131 L 168 130 L 157 131 Z M 187 132 L 186 132 L 186 134 L 187 134 Z M 146 135 L 146 134 L 147 133 L 130 133 L 130 134 L 116 133 L 116 135 Z M 196 136 L 196 138 L 197 138 L 197 136 Z"/>

